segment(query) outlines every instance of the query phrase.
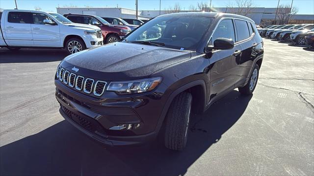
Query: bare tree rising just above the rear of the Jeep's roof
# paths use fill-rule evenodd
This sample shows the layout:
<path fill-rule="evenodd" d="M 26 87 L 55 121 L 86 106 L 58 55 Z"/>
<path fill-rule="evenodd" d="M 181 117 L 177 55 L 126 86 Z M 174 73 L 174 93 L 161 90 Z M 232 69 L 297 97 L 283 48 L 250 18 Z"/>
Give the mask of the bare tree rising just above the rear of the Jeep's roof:
<path fill-rule="evenodd" d="M 255 4 L 252 0 L 235 0 L 234 3 L 227 4 L 228 13 L 249 17 L 253 12 Z"/>

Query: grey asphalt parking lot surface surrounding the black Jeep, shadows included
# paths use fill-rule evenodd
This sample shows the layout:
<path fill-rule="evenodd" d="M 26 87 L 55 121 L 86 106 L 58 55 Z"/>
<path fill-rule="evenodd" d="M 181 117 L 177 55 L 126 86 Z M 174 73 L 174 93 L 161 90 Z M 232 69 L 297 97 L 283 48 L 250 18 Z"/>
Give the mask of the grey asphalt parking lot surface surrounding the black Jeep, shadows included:
<path fill-rule="evenodd" d="M 66 52 L 0 49 L 0 175 L 314 175 L 314 49 L 264 39 L 252 96 L 234 90 L 194 115 L 187 147 L 110 148 L 59 114 Z"/>

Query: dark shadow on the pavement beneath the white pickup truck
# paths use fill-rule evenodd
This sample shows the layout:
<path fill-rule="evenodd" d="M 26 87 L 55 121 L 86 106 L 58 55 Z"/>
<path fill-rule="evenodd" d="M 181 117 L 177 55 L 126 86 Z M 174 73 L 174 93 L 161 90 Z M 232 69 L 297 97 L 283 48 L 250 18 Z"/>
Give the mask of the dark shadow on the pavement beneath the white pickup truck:
<path fill-rule="evenodd" d="M 10 51 L 0 48 L 0 64 L 3 63 L 43 63 L 61 61 L 68 53 L 62 49 L 25 49 Z"/>

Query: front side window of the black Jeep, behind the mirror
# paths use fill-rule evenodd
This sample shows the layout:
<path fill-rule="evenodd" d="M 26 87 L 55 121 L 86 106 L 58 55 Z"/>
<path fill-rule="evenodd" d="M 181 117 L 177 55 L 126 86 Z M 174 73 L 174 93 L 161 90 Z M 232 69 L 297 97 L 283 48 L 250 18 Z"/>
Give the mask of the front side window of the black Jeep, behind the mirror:
<path fill-rule="evenodd" d="M 212 41 L 217 38 L 232 39 L 235 42 L 235 28 L 231 19 L 221 21 L 215 32 L 212 34 Z"/>

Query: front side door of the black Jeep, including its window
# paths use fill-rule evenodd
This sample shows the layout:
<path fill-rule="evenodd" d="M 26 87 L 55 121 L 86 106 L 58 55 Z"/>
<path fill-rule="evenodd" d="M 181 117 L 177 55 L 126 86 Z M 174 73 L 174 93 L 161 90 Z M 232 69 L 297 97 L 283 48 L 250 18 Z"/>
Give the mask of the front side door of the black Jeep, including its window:
<path fill-rule="evenodd" d="M 232 19 L 224 19 L 217 25 L 210 39 L 209 45 L 217 38 L 232 39 L 235 42 L 235 27 Z M 240 61 L 241 48 L 235 44 L 233 49 L 214 50 L 209 54 L 210 63 L 210 99 L 215 99 L 225 95 L 234 89 L 238 63 Z"/>

